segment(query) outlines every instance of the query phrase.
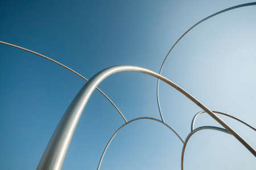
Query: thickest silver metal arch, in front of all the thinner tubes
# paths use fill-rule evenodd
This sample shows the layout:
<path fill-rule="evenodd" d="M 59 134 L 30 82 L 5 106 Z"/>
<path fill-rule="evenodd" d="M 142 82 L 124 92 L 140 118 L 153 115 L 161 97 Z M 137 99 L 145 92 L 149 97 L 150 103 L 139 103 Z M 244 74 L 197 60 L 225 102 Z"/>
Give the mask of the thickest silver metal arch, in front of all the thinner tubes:
<path fill-rule="evenodd" d="M 71 142 L 73 133 L 76 129 L 77 123 L 81 117 L 82 111 L 86 106 L 90 96 L 96 89 L 96 87 L 110 75 L 117 73 L 117 72 L 124 72 L 124 71 L 134 71 L 134 72 L 142 72 L 154 76 L 156 78 L 160 78 L 160 80 L 166 82 L 167 84 L 171 85 L 173 88 L 178 90 L 184 96 L 189 98 L 192 102 L 194 102 L 197 106 L 201 107 L 201 109 L 205 110 L 212 118 L 214 118 L 218 123 L 221 124 L 226 130 L 230 132 L 237 140 L 240 141 L 243 146 L 247 148 L 256 156 L 256 152 L 253 147 L 250 146 L 244 139 L 241 138 L 231 127 L 229 127 L 222 119 L 217 117 L 211 110 L 209 110 L 203 103 L 199 102 L 196 98 L 191 96 L 188 92 L 182 89 L 180 86 L 176 85 L 168 78 L 163 77 L 162 75 L 152 72 L 149 69 L 135 67 L 132 65 L 119 65 L 110 68 L 106 68 L 101 72 L 95 74 L 90 80 L 81 88 L 79 93 L 73 99 L 71 104 L 69 105 L 67 111 L 61 118 L 59 125 L 56 127 L 55 132 L 53 133 L 46 150 L 40 160 L 38 165 L 38 169 L 61 169 L 65 155 L 67 154 L 67 150 L 69 144 Z"/>

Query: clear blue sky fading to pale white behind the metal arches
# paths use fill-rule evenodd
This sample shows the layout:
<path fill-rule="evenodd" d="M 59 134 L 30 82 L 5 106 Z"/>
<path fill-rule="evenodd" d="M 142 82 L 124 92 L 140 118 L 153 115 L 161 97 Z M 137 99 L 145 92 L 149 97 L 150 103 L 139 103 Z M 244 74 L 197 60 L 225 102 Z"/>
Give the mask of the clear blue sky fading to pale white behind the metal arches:
<path fill-rule="evenodd" d="M 112 65 L 159 72 L 172 44 L 189 27 L 250 1 L 1 1 L 0 40 L 52 57 L 86 78 Z M 256 6 L 214 16 L 170 54 L 163 75 L 212 110 L 256 126 Z M 0 44 L 0 169 L 35 169 L 82 78 L 36 55 Z M 156 78 L 114 74 L 100 84 L 128 120 L 160 119 Z M 160 82 L 165 121 L 185 139 L 201 109 Z M 256 148 L 255 131 L 222 117 Z M 113 132 L 123 124 L 94 92 L 73 135 L 63 169 L 96 169 Z M 196 127 L 220 126 L 207 114 Z M 180 169 L 182 143 L 160 123 L 123 128 L 101 169 Z M 184 169 L 253 169 L 255 157 L 233 136 L 204 130 L 192 136 Z"/>

